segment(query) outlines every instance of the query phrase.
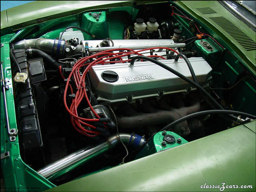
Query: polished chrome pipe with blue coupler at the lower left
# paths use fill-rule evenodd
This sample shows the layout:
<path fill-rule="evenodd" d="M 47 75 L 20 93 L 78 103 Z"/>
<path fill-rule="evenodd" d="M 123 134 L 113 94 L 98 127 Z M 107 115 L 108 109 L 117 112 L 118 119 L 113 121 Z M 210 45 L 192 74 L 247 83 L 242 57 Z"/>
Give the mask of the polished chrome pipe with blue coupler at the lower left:
<path fill-rule="evenodd" d="M 120 136 L 120 137 L 119 137 Z M 77 168 L 81 164 L 85 164 L 92 158 L 99 156 L 111 148 L 114 148 L 121 140 L 123 143 L 131 145 L 135 148 L 141 147 L 145 143 L 145 138 L 136 134 L 120 133 L 110 136 L 106 142 L 95 146 L 93 148 L 83 148 L 72 154 L 56 161 L 52 162 L 37 170 L 37 172 L 49 180 L 58 178 L 59 176 Z"/>

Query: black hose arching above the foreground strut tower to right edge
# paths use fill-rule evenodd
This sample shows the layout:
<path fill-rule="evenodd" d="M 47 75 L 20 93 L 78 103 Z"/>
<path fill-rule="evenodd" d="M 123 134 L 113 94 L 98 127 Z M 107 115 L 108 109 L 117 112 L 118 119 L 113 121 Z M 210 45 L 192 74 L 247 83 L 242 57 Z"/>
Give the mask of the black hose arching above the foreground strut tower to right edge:
<path fill-rule="evenodd" d="M 200 111 L 200 112 L 196 112 L 196 113 L 192 113 L 189 114 L 187 116 L 184 116 L 178 120 L 173 121 L 172 123 L 168 124 L 167 126 L 165 126 L 164 128 L 162 128 L 161 130 L 159 130 L 159 132 L 163 131 L 163 130 L 169 130 L 171 127 L 185 121 L 191 118 L 195 118 L 201 115 L 208 115 L 208 114 L 216 114 L 216 113 L 222 113 L 222 114 L 236 114 L 236 115 L 241 115 L 241 116 L 245 116 L 251 119 L 256 119 L 256 116 L 248 114 L 248 113 L 244 113 L 244 112 L 240 112 L 240 111 L 232 111 L 232 110 L 206 110 L 206 111 Z"/>

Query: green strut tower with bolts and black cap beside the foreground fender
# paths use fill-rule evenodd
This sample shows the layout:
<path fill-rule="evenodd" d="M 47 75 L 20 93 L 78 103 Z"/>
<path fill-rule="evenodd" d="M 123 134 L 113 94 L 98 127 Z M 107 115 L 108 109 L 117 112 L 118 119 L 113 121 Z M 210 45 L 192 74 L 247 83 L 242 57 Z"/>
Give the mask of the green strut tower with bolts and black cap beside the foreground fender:
<path fill-rule="evenodd" d="M 187 140 L 171 131 L 162 131 L 156 133 L 153 138 L 144 146 L 144 148 L 137 154 L 135 159 L 139 159 L 156 152 L 170 149 L 188 143 Z"/>

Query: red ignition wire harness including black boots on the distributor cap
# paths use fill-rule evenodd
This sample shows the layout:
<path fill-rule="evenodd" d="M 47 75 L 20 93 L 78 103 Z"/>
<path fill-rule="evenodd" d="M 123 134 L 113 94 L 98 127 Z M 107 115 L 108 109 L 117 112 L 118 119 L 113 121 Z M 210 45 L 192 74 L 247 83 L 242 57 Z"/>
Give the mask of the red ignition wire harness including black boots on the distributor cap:
<path fill-rule="evenodd" d="M 139 52 L 153 50 L 153 49 L 166 49 L 166 50 L 173 51 L 176 54 L 179 54 L 177 51 L 167 47 L 153 47 L 153 48 L 147 48 L 147 49 L 138 50 L 138 51 L 135 51 L 129 48 L 116 48 L 116 49 L 106 50 L 106 51 L 95 53 L 91 56 L 86 56 L 78 60 L 73 66 L 73 70 L 71 71 L 67 79 L 65 79 L 65 77 L 62 74 L 62 66 L 59 66 L 58 70 L 60 72 L 60 76 L 64 80 L 67 80 L 65 91 L 64 91 L 64 98 L 63 98 L 64 105 L 67 112 L 70 115 L 71 123 L 75 128 L 75 130 L 77 130 L 79 133 L 85 136 L 95 137 L 101 134 L 102 132 L 104 132 L 104 130 L 106 130 L 107 127 L 109 126 L 108 122 L 110 121 L 110 119 L 101 118 L 93 109 L 93 106 L 91 105 L 91 102 L 87 96 L 87 85 L 86 85 L 85 79 L 86 79 L 86 74 L 92 68 L 92 66 L 97 64 L 104 65 L 104 64 L 114 64 L 114 63 L 127 64 L 127 62 L 131 61 L 131 55 L 143 56 L 143 54 L 140 54 Z M 151 57 L 165 59 L 164 57 L 158 56 L 158 55 L 147 56 L 147 58 L 151 58 Z M 71 85 L 71 82 L 74 82 L 76 91 L 74 91 L 74 87 Z M 70 90 L 71 94 L 73 95 L 75 94 L 74 98 L 72 98 L 72 102 L 70 106 L 68 106 L 67 104 L 68 89 Z M 93 112 L 93 114 L 95 115 L 95 118 L 90 118 L 90 119 L 82 118 L 78 115 L 79 104 L 81 104 L 83 99 L 85 99 L 86 102 L 88 103 L 88 106 Z"/>

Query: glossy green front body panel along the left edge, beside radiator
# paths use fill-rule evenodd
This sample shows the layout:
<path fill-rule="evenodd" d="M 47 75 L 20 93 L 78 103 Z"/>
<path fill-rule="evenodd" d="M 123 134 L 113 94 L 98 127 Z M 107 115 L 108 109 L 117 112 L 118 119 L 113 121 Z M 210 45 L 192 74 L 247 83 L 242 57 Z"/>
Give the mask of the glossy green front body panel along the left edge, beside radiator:
<path fill-rule="evenodd" d="M 1 58 L 4 58 L 4 78 L 6 80 L 6 85 L 9 86 L 9 89 L 6 90 L 6 102 L 8 106 L 10 128 L 17 129 L 9 49 L 9 44 L 7 43 L 1 47 Z M 1 91 L 1 154 L 5 152 L 9 152 L 10 154 L 9 157 L 1 160 L 1 169 L 3 171 L 6 191 L 42 191 L 55 186 L 22 161 L 20 157 L 18 136 L 16 136 L 15 141 L 10 142 L 6 125 L 3 92 Z"/>

